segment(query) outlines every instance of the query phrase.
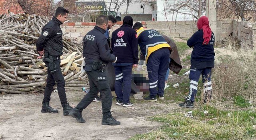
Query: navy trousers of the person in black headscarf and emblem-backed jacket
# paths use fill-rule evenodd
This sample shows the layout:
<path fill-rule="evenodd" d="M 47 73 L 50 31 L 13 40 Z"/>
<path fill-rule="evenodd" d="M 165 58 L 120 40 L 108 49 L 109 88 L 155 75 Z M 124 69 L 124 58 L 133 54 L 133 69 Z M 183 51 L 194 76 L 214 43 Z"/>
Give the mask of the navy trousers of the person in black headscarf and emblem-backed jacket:
<path fill-rule="evenodd" d="M 124 104 L 130 102 L 131 93 L 131 79 L 132 79 L 132 65 L 128 66 L 114 66 L 116 81 L 115 92 L 116 100 L 122 101 Z M 122 90 L 123 84 L 123 90 Z"/>

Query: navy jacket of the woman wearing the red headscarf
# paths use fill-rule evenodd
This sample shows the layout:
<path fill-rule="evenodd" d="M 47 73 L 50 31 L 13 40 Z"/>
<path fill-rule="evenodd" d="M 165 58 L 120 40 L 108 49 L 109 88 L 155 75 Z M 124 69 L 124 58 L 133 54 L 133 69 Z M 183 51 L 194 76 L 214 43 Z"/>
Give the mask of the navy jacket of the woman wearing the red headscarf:
<path fill-rule="evenodd" d="M 204 38 L 203 30 L 198 30 L 195 32 L 191 38 L 188 40 L 187 44 L 191 48 L 194 46 L 194 50 L 191 53 L 191 62 L 192 61 L 214 61 L 214 40 L 215 36 L 212 32 L 212 37 L 208 45 L 203 45 Z"/>

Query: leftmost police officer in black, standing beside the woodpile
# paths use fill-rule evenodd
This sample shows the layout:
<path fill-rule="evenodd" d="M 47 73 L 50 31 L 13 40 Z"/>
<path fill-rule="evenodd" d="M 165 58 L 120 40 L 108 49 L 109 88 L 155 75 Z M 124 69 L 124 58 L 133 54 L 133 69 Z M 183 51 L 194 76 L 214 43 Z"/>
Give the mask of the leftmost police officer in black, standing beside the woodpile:
<path fill-rule="evenodd" d="M 60 56 L 63 54 L 62 30 L 60 25 L 66 20 L 68 10 L 58 7 L 55 16 L 42 29 L 42 34 L 36 42 L 36 48 L 40 54 L 44 55 L 44 63 L 47 66 L 47 80 L 44 90 L 44 100 L 42 102 L 42 113 L 58 113 L 57 109 L 49 105 L 53 86 L 57 82 L 58 94 L 63 107 L 63 114 L 66 116 L 73 109 L 69 106 L 65 93 L 65 80 L 60 70 Z"/>

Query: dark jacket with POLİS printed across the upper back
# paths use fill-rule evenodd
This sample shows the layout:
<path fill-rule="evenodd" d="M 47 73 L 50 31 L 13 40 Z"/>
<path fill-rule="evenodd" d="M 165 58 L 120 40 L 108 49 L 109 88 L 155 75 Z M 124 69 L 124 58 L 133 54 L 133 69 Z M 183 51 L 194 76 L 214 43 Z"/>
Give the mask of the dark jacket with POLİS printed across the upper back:
<path fill-rule="evenodd" d="M 102 61 L 106 64 L 116 60 L 116 56 L 110 54 L 107 38 L 104 35 L 105 32 L 106 30 L 95 26 L 84 36 L 83 57 L 85 57 L 85 60 Z"/>

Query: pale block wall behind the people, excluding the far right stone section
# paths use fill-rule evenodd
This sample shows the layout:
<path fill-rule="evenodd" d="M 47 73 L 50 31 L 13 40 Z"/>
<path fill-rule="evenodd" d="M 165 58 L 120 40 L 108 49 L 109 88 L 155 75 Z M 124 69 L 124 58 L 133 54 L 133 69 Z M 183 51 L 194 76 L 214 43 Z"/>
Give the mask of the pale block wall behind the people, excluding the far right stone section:
<path fill-rule="evenodd" d="M 142 22 L 147 28 L 153 28 L 160 33 L 175 38 L 190 38 L 198 29 L 196 23 L 193 21 L 146 21 Z M 117 25 L 110 29 L 110 34 L 122 25 L 122 21 L 117 22 Z M 66 33 L 65 36 L 71 38 L 82 38 L 84 35 L 92 30 L 95 22 L 76 22 L 66 23 L 62 26 L 62 32 Z M 170 29 L 169 29 L 170 28 Z M 216 40 L 223 40 L 233 32 L 232 20 L 221 20 L 217 22 L 217 36 Z M 216 34 L 216 33 L 215 33 Z"/>

